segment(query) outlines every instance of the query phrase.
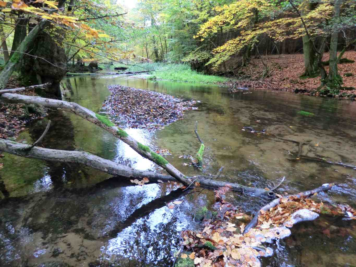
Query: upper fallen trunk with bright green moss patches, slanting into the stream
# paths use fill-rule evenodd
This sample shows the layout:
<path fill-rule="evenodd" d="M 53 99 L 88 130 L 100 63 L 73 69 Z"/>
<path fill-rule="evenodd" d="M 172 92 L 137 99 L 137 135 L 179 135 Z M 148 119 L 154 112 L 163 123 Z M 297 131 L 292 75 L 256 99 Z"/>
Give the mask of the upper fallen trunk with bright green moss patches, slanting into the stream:
<path fill-rule="evenodd" d="M 129 145 L 133 150 L 135 150 L 142 157 L 149 159 L 152 162 L 155 162 L 166 170 L 172 177 L 176 178 L 178 182 L 185 185 L 192 183 L 192 180 L 185 177 L 183 173 L 178 171 L 172 164 L 170 164 L 162 156 L 151 151 L 148 146 L 142 145 L 140 142 L 137 142 L 134 138 L 129 136 L 124 130 L 115 126 L 108 117 L 101 116 L 94 113 L 93 111 L 84 108 L 83 106 L 78 105 L 77 103 L 67 102 L 62 100 L 47 99 L 38 96 L 27 96 L 19 94 L 4 93 L 0 95 L 0 101 L 6 101 L 8 103 L 24 103 L 24 104 L 38 104 L 45 106 L 50 109 L 57 109 L 72 112 L 75 115 L 83 117 L 84 119 L 100 126 L 106 131 L 110 132 L 115 137 L 119 138 L 121 141 Z"/>

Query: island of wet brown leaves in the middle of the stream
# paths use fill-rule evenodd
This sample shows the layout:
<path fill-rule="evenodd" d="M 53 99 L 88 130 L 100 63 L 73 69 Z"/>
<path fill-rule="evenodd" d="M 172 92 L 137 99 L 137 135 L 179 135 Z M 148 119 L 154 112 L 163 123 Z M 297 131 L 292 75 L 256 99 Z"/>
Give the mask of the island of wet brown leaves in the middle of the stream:
<path fill-rule="evenodd" d="M 192 107 L 196 101 L 154 91 L 121 85 L 110 85 L 109 90 L 103 109 L 120 126 L 155 130 L 182 119 L 184 111 L 196 109 Z"/>

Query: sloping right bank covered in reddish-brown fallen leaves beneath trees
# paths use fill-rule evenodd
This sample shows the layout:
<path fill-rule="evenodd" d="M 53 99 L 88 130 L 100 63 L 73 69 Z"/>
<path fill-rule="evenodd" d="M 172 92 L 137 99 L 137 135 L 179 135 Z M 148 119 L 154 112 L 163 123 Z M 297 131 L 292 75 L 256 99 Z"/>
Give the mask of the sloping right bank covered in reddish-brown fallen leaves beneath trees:
<path fill-rule="evenodd" d="M 355 61 L 354 63 L 338 64 L 339 74 L 341 75 L 344 84 L 343 87 L 353 87 L 351 90 L 340 90 L 340 93 L 335 97 L 347 98 L 347 95 L 356 94 L 356 51 L 345 52 L 343 58 Z M 240 79 L 230 80 L 223 84 L 237 87 L 253 87 L 263 90 L 282 90 L 295 91 L 299 89 L 307 95 L 319 95 L 315 90 L 320 86 L 320 76 L 315 78 L 303 79 L 300 75 L 304 70 L 303 54 L 282 54 L 282 55 L 267 55 L 262 56 L 263 61 L 269 68 L 269 77 L 261 79 L 261 75 L 265 67 L 261 59 L 252 58 L 246 67 L 239 69 Z M 324 53 L 323 61 L 329 60 L 329 53 Z M 329 66 L 324 66 L 329 72 Z M 352 76 L 345 76 L 346 73 L 351 73 Z M 347 74 L 350 75 L 350 74 Z"/>

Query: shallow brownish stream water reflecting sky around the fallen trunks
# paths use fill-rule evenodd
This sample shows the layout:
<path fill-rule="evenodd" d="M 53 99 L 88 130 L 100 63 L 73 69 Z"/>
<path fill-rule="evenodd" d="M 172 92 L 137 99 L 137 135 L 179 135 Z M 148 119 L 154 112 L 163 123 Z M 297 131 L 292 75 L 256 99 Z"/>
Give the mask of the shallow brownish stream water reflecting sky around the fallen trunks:
<path fill-rule="evenodd" d="M 356 164 L 356 104 L 284 92 L 250 90 L 230 94 L 225 87 L 112 76 L 65 79 L 66 94 L 95 112 L 109 95 L 107 85 L 121 84 L 199 101 L 198 110 L 156 132 L 128 129 L 153 149 L 166 148 L 169 162 L 187 175 L 202 172 L 184 166 L 195 155 L 198 132 L 205 144 L 204 174 L 256 187 L 273 187 L 286 176 L 280 192 L 295 193 L 323 183 L 338 185 L 316 200 L 356 206 L 355 170 L 296 159 L 302 154 Z M 251 93 L 250 93 L 251 92 Z M 300 115 L 300 110 L 315 116 Z M 43 146 L 88 151 L 138 169 L 157 170 L 150 161 L 104 130 L 71 114 L 56 111 L 33 121 L 19 141 L 35 141 L 52 120 Z M 267 134 L 242 131 L 252 126 Z M 283 139 L 283 140 L 282 140 Z M 317 146 L 316 146 L 317 145 Z M 70 266 L 172 266 L 180 231 L 197 229 L 193 214 L 214 204 L 213 193 L 182 192 L 174 183 L 134 185 L 122 178 L 77 164 L 49 163 L 6 154 L 0 158 L 0 266 L 35 266 L 57 261 Z M 200 191 L 200 189 L 199 189 Z M 168 209 L 165 203 L 183 203 Z M 259 199 L 230 194 L 229 201 L 254 212 Z M 293 228 L 275 245 L 264 266 L 351 266 L 356 260 L 352 221 L 320 218 Z M 58 266 L 58 265 L 57 265 Z M 65 265 L 63 265 L 65 266 Z"/>

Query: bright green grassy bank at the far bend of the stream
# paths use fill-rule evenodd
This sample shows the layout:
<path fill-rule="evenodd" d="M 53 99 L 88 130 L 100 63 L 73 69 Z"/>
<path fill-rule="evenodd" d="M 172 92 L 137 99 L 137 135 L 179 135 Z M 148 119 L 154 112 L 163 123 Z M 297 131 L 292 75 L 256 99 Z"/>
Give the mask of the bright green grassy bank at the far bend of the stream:
<path fill-rule="evenodd" d="M 105 66 L 104 66 L 105 67 Z M 114 67 L 124 67 L 112 66 Z M 126 71 L 142 71 L 152 70 L 150 72 L 151 79 L 170 80 L 173 82 L 187 82 L 187 83 L 222 83 L 228 79 L 225 77 L 205 75 L 191 70 L 189 65 L 186 64 L 167 64 L 167 63 L 139 63 L 129 67 Z"/>

